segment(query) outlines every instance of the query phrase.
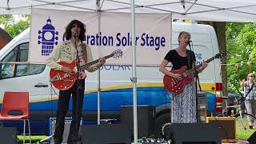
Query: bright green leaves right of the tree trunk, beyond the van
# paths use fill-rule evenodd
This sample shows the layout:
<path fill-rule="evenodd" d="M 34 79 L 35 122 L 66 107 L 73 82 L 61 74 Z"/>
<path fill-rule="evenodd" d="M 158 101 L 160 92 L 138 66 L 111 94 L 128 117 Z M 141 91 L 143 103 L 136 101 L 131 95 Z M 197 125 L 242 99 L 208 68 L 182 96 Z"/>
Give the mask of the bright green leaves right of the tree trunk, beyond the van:
<path fill-rule="evenodd" d="M 256 63 L 256 24 L 234 23 L 226 24 L 226 50 L 228 89 L 241 90 L 240 81 L 248 73 L 255 73 Z M 241 63 L 241 64 L 235 64 Z"/>

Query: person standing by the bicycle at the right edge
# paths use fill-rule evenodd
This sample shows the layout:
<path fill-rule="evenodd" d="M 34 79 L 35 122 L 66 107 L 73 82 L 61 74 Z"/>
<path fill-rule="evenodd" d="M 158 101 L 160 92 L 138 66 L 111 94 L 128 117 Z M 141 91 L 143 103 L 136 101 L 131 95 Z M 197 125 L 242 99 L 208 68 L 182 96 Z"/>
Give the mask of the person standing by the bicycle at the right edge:
<path fill-rule="evenodd" d="M 243 79 L 240 82 L 240 86 L 243 87 L 243 94 L 246 98 L 245 105 L 248 114 L 254 115 L 256 114 L 256 86 L 254 83 L 254 74 L 249 73 L 247 75 L 247 80 Z M 254 129 L 254 118 L 248 117 L 249 128 Z"/>

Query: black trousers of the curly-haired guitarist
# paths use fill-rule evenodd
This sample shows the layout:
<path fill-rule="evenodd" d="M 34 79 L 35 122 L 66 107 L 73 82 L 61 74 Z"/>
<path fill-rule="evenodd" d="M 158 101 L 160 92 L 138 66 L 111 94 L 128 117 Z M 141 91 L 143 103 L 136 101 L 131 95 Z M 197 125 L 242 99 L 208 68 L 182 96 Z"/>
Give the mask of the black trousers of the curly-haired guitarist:
<path fill-rule="evenodd" d="M 78 130 L 80 127 L 80 119 L 82 116 L 82 102 L 84 98 L 85 90 L 85 80 L 78 80 L 78 96 L 77 96 L 77 82 L 74 83 L 69 90 L 60 90 L 58 98 L 58 110 L 57 110 L 57 120 L 56 128 L 54 132 L 54 143 L 60 144 L 63 140 L 62 134 L 64 132 L 65 117 L 67 110 L 69 109 L 70 95 L 72 94 L 73 108 L 72 108 L 72 122 L 70 125 L 70 133 L 67 139 L 68 143 L 77 142 L 81 139 L 78 135 Z M 78 100 L 77 100 L 78 97 Z M 77 108 L 78 106 L 78 108 Z M 78 109 L 78 111 L 77 111 Z M 77 125 L 77 126 L 76 126 Z"/>

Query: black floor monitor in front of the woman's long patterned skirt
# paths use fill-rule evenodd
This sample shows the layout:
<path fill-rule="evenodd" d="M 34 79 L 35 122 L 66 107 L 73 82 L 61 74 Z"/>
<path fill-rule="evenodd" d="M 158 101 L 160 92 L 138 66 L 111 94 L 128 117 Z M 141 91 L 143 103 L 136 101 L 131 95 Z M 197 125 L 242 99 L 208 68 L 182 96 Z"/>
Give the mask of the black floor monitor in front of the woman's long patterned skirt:
<path fill-rule="evenodd" d="M 172 123 L 170 139 L 174 144 L 221 144 L 218 127 L 208 123 Z"/>

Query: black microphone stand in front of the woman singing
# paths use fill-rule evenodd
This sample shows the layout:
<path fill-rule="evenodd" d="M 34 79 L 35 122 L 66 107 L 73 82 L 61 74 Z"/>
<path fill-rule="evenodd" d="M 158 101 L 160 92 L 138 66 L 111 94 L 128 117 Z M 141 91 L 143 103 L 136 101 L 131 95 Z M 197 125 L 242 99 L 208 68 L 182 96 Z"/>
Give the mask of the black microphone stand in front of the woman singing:
<path fill-rule="evenodd" d="M 192 50 L 191 50 L 191 45 L 190 45 L 190 42 L 188 42 L 189 46 L 190 46 L 190 59 L 192 61 Z M 193 46 L 193 45 L 192 45 Z M 193 62 L 193 61 L 192 61 Z M 197 118 L 197 123 L 199 122 L 199 118 L 198 118 L 198 85 L 199 85 L 199 88 L 201 90 L 201 86 L 200 86 L 200 83 L 199 83 L 199 77 L 198 77 L 198 72 L 196 70 L 196 66 L 195 66 L 195 62 L 194 62 L 194 77 L 195 77 L 195 82 L 194 82 L 194 85 L 195 85 L 195 106 L 196 106 L 196 118 Z M 193 66 L 193 63 L 192 63 L 192 66 Z"/>

